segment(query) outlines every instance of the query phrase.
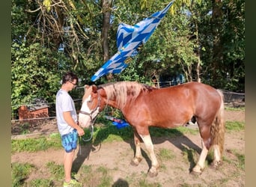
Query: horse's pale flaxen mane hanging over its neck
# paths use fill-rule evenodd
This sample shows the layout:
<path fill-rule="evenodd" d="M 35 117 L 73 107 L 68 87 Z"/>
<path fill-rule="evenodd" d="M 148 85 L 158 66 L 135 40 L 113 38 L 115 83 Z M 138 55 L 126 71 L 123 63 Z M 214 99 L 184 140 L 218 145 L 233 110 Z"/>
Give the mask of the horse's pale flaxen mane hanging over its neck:
<path fill-rule="evenodd" d="M 115 82 L 100 85 L 106 91 L 108 99 L 115 99 L 118 106 L 124 107 L 128 96 L 136 99 L 141 91 L 148 91 L 148 86 L 144 86 L 138 82 Z"/>

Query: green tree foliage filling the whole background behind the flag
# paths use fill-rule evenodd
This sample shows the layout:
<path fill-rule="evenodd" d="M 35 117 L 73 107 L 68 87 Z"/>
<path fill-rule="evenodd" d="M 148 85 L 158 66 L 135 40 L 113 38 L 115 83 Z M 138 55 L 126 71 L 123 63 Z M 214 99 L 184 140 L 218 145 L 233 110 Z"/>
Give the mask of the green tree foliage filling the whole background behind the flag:
<path fill-rule="evenodd" d="M 76 8 L 70 8 L 68 1 L 52 4 L 51 7 L 43 7 L 42 1 L 11 1 L 13 112 L 36 97 L 54 102 L 62 73 L 67 70 L 75 71 L 82 85 L 92 84 L 91 76 L 105 63 L 101 2 L 72 2 Z M 168 2 L 112 1 L 109 8 L 109 58 L 117 52 L 116 32 L 120 22 L 135 25 L 151 13 L 162 10 Z M 61 7 L 67 7 L 67 10 Z M 150 40 L 129 62 L 127 69 L 115 75 L 112 81 L 150 83 L 153 73 L 166 79 L 184 73 L 187 81 L 189 76 L 195 80 L 200 61 L 202 82 L 216 88 L 243 92 L 245 1 L 222 1 L 222 24 L 216 26 L 222 52 L 221 60 L 215 61 L 217 64 L 213 64 L 213 25 L 216 22 L 213 22 L 211 10 L 211 1 L 175 1 Z M 60 44 L 64 44 L 64 50 L 58 52 Z M 108 81 L 103 76 L 95 83 Z"/>

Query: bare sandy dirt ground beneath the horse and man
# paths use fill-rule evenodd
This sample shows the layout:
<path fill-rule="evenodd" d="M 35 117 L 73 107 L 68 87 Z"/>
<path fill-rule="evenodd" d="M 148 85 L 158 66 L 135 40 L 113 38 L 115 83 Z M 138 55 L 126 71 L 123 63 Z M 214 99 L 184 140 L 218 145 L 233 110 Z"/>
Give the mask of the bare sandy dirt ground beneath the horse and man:
<path fill-rule="evenodd" d="M 229 121 L 245 121 L 245 111 L 225 111 L 225 120 Z M 197 127 L 194 127 L 197 128 Z M 52 125 L 41 126 L 35 132 L 56 132 L 57 129 Z M 58 131 L 57 131 L 58 132 Z M 13 137 L 15 138 L 15 137 Z M 158 159 L 161 168 L 156 177 L 147 177 L 147 183 L 160 183 L 161 186 L 216 186 L 216 181 L 223 180 L 223 186 L 245 186 L 245 171 L 237 173 L 237 162 L 228 164 L 224 162 L 218 169 L 205 168 L 203 174 L 195 177 L 189 174 L 189 169 L 195 165 L 197 160 L 191 159 L 191 156 L 184 155 L 183 150 L 190 149 L 201 151 L 200 135 L 182 135 L 177 138 L 152 138 L 156 158 L 159 158 L 159 152 L 162 149 L 171 150 L 174 154 L 173 159 L 161 160 Z M 140 165 L 134 167 L 129 164 L 131 161 L 133 151 L 132 141 L 121 141 L 104 143 L 99 147 L 86 145 L 76 150 L 76 158 L 74 165 L 77 168 L 82 165 L 91 165 L 93 168 L 103 166 L 111 170 L 111 176 L 114 182 L 126 180 L 127 178 L 136 178 L 142 174 L 147 174 L 150 166 L 150 161 L 145 153 L 142 144 L 142 155 L 144 159 Z M 228 132 L 225 134 L 225 159 L 229 161 L 236 160 L 236 153 L 240 155 L 245 154 L 245 131 Z M 62 165 L 63 150 L 49 149 L 46 151 L 39 151 L 36 153 L 14 153 L 11 155 L 11 162 L 31 163 L 38 169 L 31 174 L 27 180 L 43 179 L 49 177 L 46 170 L 47 162 L 56 162 Z M 77 176 L 82 177 L 82 171 L 78 170 Z M 219 183 L 219 182 L 218 182 Z M 186 184 L 186 185 L 185 185 Z M 86 186 L 86 185 L 85 185 Z M 93 186 L 93 185 L 91 185 Z M 127 186 L 127 185 L 126 185 Z M 128 185 L 132 186 L 132 184 Z"/>

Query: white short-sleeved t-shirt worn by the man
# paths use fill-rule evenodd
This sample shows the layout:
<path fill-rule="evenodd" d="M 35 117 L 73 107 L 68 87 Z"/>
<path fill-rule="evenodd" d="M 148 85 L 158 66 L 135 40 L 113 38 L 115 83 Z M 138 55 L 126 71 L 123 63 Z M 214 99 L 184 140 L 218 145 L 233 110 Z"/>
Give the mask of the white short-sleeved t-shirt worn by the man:
<path fill-rule="evenodd" d="M 64 120 L 63 112 L 70 111 L 73 120 L 77 123 L 76 107 L 73 99 L 67 91 L 60 89 L 56 94 L 56 117 L 58 131 L 61 135 L 66 135 L 73 131 L 73 127 L 69 126 Z"/>

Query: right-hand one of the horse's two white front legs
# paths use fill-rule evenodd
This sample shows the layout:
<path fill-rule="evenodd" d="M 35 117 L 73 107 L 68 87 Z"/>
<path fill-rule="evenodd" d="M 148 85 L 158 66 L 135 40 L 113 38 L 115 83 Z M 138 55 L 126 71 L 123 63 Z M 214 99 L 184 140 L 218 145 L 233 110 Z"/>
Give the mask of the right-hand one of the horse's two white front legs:
<path fill-rule="evenodd" d="M 153 151 L 153 143 L 152 140 L 150 138 L 150 135 L 140 135 L 141 139 L 144 141 L 144 145 L 147 149 L 147 152 L 150 155 L 150 160 L 151 160 L 151 168 L 148 171 L 148 174 L 150 177 L 156 177 L 156 175 L 158 174 L 158 168 L 159 168 L 159 164 L 156 160 L 156 155 Z"/>

